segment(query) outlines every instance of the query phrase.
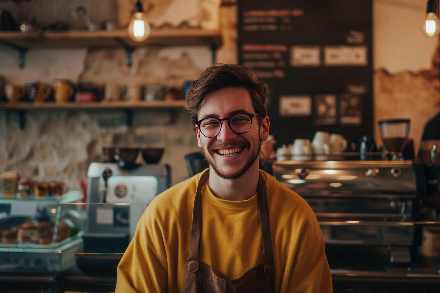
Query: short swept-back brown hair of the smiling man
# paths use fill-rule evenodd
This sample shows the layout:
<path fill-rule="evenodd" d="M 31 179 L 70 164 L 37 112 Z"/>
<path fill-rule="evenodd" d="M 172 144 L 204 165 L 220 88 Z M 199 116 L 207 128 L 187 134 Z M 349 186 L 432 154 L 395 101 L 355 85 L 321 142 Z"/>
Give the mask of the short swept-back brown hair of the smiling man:
<path fill-rule="evenodd" d="M 197 111 L 207 94 L 226 87 L 244 87 L 249 92 L 253 108 L 260 115 L 258 124 L 267 115 L 265 105 L 266 88 L 258 80 L 257 73 L 247 66 L 239 64 L 217 63 L 208 67 L 197 80 L 194 80 L 187 92 L 185 108 L 190 112 L 193 125 L 197 121 Z"/>

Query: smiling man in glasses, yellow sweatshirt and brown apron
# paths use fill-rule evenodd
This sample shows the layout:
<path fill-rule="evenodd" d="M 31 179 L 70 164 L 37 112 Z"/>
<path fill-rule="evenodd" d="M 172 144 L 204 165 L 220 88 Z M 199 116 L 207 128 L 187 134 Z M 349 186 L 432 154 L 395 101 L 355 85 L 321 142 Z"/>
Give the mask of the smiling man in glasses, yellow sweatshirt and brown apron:
<path fill-rule="evenodd" d="M 192 83 L 186 108 L 209 169 L 147 207 L 117 292 L 332 292 L 312 209 L 258 169 L 264 102 L 263 83 L 241 65 L 214 65 Z"/>

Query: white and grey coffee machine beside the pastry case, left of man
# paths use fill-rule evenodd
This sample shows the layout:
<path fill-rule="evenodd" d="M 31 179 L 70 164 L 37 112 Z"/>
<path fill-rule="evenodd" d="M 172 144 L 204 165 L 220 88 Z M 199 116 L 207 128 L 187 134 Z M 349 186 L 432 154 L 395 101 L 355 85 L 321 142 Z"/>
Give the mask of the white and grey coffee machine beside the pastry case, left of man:
<path fill-rule="evenodd" d="M 87 176 L 84 252 L 124 253 L 148 204 L 170 187 L 170 167 L 91 163 Z"/>

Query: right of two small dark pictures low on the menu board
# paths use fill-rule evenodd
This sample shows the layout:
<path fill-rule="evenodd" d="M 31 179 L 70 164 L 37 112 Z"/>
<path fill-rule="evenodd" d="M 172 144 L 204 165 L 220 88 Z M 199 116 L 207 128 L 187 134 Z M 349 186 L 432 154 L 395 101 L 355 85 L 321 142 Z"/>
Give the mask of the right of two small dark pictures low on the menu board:
<path fill-rule="evenodd" d="M 362 124 L 362 99 L 356 94 L 341 94 L 339 96 L 339 113 L 341 125 Z"/>

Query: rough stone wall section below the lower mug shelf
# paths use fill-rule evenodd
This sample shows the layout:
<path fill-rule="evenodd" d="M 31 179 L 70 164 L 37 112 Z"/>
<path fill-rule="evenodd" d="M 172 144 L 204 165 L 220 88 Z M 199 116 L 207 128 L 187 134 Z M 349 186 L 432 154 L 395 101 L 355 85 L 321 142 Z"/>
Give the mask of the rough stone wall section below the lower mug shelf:
<path fill-rule="evenodd" d="M 171 165 L 173 183 L 187 177 L 183 155 L 199 149 L 182 110 L 140 111 L 130 128 L 123 112 L 30 112 L 26 119 L 26 129 L 19 130 L 17 115 L 0 116 L 0 170 L 62 177 L 73 187 L 86 178 L 88 165 L 101 159 L 103 145 L 165 147 L 161 163 Z"/>

